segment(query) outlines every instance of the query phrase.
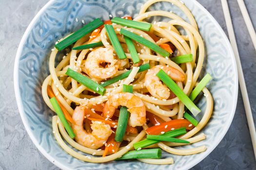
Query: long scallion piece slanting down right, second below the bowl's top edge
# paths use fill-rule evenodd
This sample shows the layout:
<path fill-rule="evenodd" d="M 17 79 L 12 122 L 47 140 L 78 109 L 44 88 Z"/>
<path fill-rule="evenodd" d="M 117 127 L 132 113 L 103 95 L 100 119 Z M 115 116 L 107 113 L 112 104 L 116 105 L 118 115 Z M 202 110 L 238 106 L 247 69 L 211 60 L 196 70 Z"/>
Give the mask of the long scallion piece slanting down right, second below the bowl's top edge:
<path fill-rule="evenodd" d="M 157 44 L 155 44 L 155 43 L 153 43 L 153 42 L 151 42 L 151 41 L 149 41 L 145 38 L 142 38 L 141 36 L 139 36 L 137 34 L 134 34 L 130 31 L 127 31 L 123 28 L 121 28 L 120 34 L 123 34 L 123 35 L 137 41 L 138 43 L 150 48 L 151 50 L 156 51 L 157 53 L 159 53 L 163 57 L 169 57 L 169 55 L 170 55 L 170 53 L 168 51 L 162 49 Z"/>

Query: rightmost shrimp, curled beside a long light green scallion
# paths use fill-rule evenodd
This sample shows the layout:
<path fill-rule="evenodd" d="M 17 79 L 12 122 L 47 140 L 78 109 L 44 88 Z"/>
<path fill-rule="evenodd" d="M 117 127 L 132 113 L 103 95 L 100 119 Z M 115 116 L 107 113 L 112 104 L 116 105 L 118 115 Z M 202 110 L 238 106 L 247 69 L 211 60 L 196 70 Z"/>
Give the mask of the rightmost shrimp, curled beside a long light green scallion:
<path fill-rule="evenodd" d="M 160 79 L 156 76 L 158 71 L 162 69 L 166 72 L 174 81 L 184 81 L 185 76 L 175 68 L 158 65 L 150 68 L 145 75 L 145 85 L 149 93 L 158 99 L 168 99 L 170 96 L 170 90 L 166 85 L 163 85 Z"/>

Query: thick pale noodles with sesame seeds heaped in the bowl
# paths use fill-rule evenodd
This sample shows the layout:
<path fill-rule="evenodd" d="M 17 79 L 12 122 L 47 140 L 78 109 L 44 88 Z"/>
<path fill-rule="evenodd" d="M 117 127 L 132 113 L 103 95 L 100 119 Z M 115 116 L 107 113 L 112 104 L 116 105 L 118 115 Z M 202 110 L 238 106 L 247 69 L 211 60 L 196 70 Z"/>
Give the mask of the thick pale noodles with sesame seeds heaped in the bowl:
<path fill-rule="evenodd" d="M 150 11 L 146 12 L 150 5 L 160 2 L 167 1 L 171 2 L 177 7 L 179 7 L 184 14 L 188 17 L 189 23 L 185 22 L 181 17 L 178 17 L 174 13 L 165 12 L 165 11 Z M 172 43 L 176 49 L 178 55 L 184 54 L 192 54 L 193 62 L 185 63 L 181 65 L 177 65 L 173 61 L 171 61 L 167 57 L 160 56 L 159 54 L 154 53 L 149 48 L 137 44 L 136 50 L 139 53 L 139 59 L 142 64 L 149 63 L 150 67 L 154 67 L 156 65 L 166 65 L 172 68 L 176 68 L 181 73 L 185 75 L 184 82 L 176 82 L 177 85 L 183 90 L 185 94 L 189 96 L 193 88 L 197 85 L 197 79 L 199 77 L 203 61 L 204 61 L 204 44 L 202 38 L 198 32 L 197 23 L 195 18 L 188 10 L 188 8 L 179 0 L 148 0 L 142 7 L 139 12 L 138 17 L 134 18 L 136 21 L 143 21 L 143 19 L 154 17 L 154 16 L 162 16 L 170 18 L 169 22 L 154 22 L 152 23 L 152 28 L 150 30 L 151 34 L 154 34 L 160 39 L 155 42 L 152 37 L 138 29 L 134 28 L 125 28 L 128 31 L 133 32 L 134 34 L 138 34 L 143 36 L 143 38 L 156 43 L 157 45 L 163 43 Z M 143 21 L 144 22 L 144 21 Z M 180 26 L 186 32 L 186 35 L 181 35 L 175 26 Z M 124 38 L 119 34 L 120 29 L 124 28 L 121 25 L 113 24 L 116 34 L 118 35 L 119 42 L 125 43 Z M 80 38 L 75 44 L 74 47 L 78 47 L 84 44 L 88 44 L 89 34 Z M 105 28 L 102 29 L 99 36 L 93 39 L 90 43 L 96 43 L 102 41 L 105 48 L 113 49 L 108 37 Z M 125 51 L 125 46 L 123 46 Z M 197 52 L 198 49 L 198 52 Z M 134 94 L 139 97 L 145 105 L 146 111 L 153 113 L 164 121 L 170 121 L 172 119 L 183 119 L 183 113 L 185 110 L 184 104 L 177 98 L 167 99 L 167 100 L 158 100 L 150 95 L 147 95 L 148 91 L 145 87 L 145 74 L 147 71 L 138 73 L 138 67 L 130 64 L 130 67 L 127 69 L 131 69 L 131 73 L 129 77 L 126 79 L 119 81 L 113 85 L 106 86 L 106 93 L 103 96 L 98 96 L 97 94 L 93 94 L 90 89 L 86 86 L 79 84 L 71 77 L 68 77 L 65 73 L 68 68 L 73 68 L 77 72 L 86 73 L 82 70 L 82 65 L 86 61 L 86 56 L 91 52 L 91 50 L 72 50 L 70 51 L 63 59 L 59 62 L 58 66 L 55 68 L 55 58 L 58 53 L 58 50 L 54 48 L 51 52 L 49 59 L 49 69 L 50 75 L 44 80 L 42 85 L 42 96 L 45 103 L 54 111 L 54 108 L 50 102 L 50 99 L 47 95 L 47 86 L 51 86 L 57 100 L 64 106 L 64 108 L 68 111 L 68 113 L 72 116 L 74 112 L 73 105 L 86 105 L 88 108 L 91 108 L 93 105 L 105 103 L 108 100 L 108 97 L 122 92 L 123 85 L 133 85 Z M 126 53 L 127 58 L 131 59 L 131 55 Z M 197 57 L 198 56 L 198 57 Z M 197 62 L 196 62 L 197 57 Z M 130 60 L 131 61 L 131 60 Z M 131 67 L 133 66 L 133 67 Z M 118 70 L 118 74 L 124 72 L 123 70 Z M 88 77 L 88 75 L 86 75 Z M 93 79 L 98 82 L 97 79 Z M 195 143 L 200 140 L 206 138 L 204 134 L 199 134 L 195 136 L 208 122 L 211 117 L 213 110 L 213 99 L 211 93 L 208 91 L 206 87 L 203 88 L 203 93 L 206 96 L 206 109 L 203 114 L 203 118 L 200 120 L 198 125 L 194 127 L 191 131 L 186 133 L 183 136 L 180 136 L 181 139 L 187 139 L 190 143 Z M 165 106 L 173 105 L 172 109 L 166 109 Z M 105 157 L 97 157 L 91 155 L 83 155 L 74 151 L 70 148 L 64 140 L 66 140 L 72 147 L 77 150 L 88 153 L 92 155 L 102 155 L 103 150 L 96 150 L 84 147 L 73 140 L 66 132 L 63 124 L 59 120 L 57 116 L 54 116 L 52 119 L 53 132 L 56 137 L 57 142 L 60 147 L 62 147 L 67 153 L 70 155 L 92 163 L 102 163 L 115 160 L 121 157 L 123 154 L 128 151 L 134 150 L 133 144 L 143 140 L 145 138 L 146 132 L 145 130 L 148 128 L 148 125 L 144 124 L 143 129 L 137 135 L 126 134 L 124 140 L 128 143 L 126 146 L 120 147 L 117 153 L 105 156 Z M 62 138 L 62 137 L 63 138 Z M 63 140 L 64 139 L 64 140 Z M 193 149 L 175 149 L 175 146 L 184 145 L 182 143 L 172 143 L 172 142 L 159 142 L 157 144 L 153 144 L 148 148 L 161 148 L 162 150 L 177 154 L 177 155 L 189 155 L 196 154 L 200 152 L 204 152 L 206 150 L 205 146 L 200 146 Z M 138 159 L 141 162 L 149 163 L 149 164 L 172 164 L 174 160 L 172 158 L 166 159 Z"/>

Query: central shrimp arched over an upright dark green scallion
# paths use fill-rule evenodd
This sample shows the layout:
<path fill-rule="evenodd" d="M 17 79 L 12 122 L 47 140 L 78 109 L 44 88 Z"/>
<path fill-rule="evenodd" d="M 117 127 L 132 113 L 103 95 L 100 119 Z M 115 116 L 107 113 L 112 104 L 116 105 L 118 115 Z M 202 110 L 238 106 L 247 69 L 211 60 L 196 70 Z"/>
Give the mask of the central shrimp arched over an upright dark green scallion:
<path fill-rule="evenodd" d="M 146 108 L 140 98 L 132 93 L 117 93 L 108 98 L 104 108 L 104 117 L 111 118 L 118 106 L 126 106 L 131 113 L 128 124 L 132 127 L 146 123 Z"/>

